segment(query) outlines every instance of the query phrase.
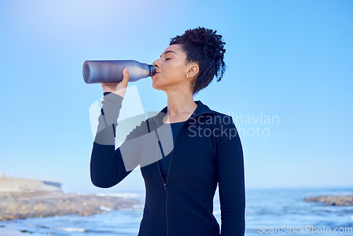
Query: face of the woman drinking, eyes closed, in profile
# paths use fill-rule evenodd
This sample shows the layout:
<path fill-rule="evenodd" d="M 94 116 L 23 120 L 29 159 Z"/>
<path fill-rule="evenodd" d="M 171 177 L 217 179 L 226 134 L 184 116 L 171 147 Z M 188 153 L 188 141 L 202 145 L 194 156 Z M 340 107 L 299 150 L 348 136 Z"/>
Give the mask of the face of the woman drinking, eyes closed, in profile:
<path fill-rule="evenodd" d="M 186 54 L 181 51 L 180 45 L 170 45 L 167 47 L 162 52 L 160 59 L 154 61 L 153 65 L 156 66 L 157 71 L 152 76 L 153 88 L 167 92 L 189 86 L 190 81 L 186 78 L 186 74 L 191 64 L 186 62 Z"/>

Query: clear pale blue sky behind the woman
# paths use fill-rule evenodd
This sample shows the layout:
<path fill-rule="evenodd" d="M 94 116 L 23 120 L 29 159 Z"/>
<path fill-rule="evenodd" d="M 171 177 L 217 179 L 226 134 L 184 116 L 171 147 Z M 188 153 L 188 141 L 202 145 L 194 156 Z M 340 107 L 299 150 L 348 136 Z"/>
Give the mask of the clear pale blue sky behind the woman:
<path fill-rule="evenodd" d="M 83 62 L 152 63 L 200 25 L 223 35 L 227 70 L 194 100 L 277 117 L 236 123 L 246 188 L 352 186 L 352 22 L 350 0 L 0 1 L 0 171 L 102 191 L 90 182 L 88 112 L 102 88 L 84 83 Z M 150 78 L 132 85 L 145 111 L 167 105 Z M 143 178 L 118 185 L 107 191 L 143 189 Z"/>

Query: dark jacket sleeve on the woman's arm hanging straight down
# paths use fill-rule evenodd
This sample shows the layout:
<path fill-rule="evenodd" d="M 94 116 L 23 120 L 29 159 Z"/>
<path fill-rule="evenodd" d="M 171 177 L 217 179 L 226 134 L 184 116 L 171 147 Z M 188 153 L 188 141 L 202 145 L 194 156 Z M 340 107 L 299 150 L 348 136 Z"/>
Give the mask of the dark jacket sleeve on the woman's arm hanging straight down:
<path fill-rule="evenodd" d="M 232 117 L 222 124 L 217 142 L 217 175 L 221 209 L 221 235 L 245 232 L 244 157 Z"/>

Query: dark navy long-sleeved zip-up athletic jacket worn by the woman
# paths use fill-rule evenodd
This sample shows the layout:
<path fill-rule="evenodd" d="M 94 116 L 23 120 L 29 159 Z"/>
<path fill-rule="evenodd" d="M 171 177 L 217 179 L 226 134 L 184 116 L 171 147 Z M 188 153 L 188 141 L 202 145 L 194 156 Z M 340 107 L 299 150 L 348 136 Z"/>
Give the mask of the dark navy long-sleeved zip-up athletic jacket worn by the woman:
<path fill-rule="evenodd" d="M 104 93 L 90 175 L 95 186 L 108 188 L 121 182 L 140 165 L 146 192 L 138 235 L 244 235 L 244 159 L 232 117 L 195 101 L 198 105 L 195 112 L 178 131 L 164 182 L 157 164 L 162 158 L 158 155 L 163 156 L 164 151 L 163 141 L 158 141 L 158 128 L 163 125 L 167 107 L 136 126 L 115 149 L 116 121 L 122 100 L 114 93 Z M 151 137 L 157 138 L 153 141 Z M 213 216 L 217 184 L 221 234 L 220 225 Z"/>

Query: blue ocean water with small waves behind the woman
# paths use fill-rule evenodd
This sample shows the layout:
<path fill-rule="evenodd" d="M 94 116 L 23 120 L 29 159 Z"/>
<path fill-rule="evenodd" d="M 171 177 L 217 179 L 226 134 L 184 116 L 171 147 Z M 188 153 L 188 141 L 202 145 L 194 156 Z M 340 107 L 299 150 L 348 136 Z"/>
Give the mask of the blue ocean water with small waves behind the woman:
<path fill-rule="evenodd" d="M 353 195 L 353 187 L 246 189 L 245 235 L 352 236 L 353 206 L 325 206 L 304 201 L 309 196 L 348 194 Z M 144 193 L 122 193 L 116 196 L 140 201 L 145 197 Z M 12 220 L 0 222 L 0 235 L 136 236 L 142 213 L 143 205 L 138 205 L 121 211 L 107 209 L 107 213 L 93 216 Z M 213 214 L 221 225 L 217 191 Z"/>

